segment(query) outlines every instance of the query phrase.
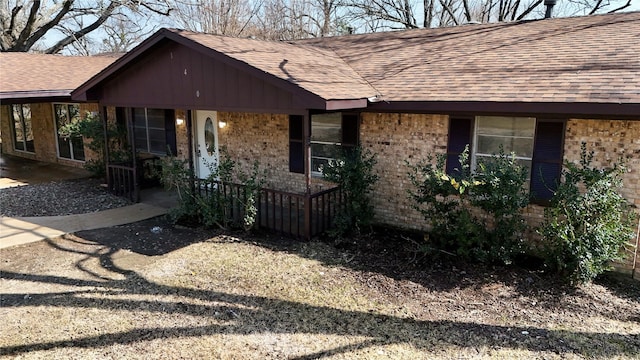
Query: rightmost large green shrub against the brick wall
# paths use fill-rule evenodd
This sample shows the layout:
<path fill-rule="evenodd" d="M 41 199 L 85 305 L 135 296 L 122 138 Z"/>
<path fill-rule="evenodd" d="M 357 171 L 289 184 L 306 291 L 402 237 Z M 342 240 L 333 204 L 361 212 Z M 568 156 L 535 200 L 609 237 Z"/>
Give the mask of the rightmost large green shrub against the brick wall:
<path fill-rule="evenodd" d="M 580 163 L 565 163 L 564 180 L 538 229 L 546 265 L 573 283 L 610 270 L 635 236 L 636 214 L 619 192 L 624 163 L 597 169 L 592 159 L 583 143 Z"/>

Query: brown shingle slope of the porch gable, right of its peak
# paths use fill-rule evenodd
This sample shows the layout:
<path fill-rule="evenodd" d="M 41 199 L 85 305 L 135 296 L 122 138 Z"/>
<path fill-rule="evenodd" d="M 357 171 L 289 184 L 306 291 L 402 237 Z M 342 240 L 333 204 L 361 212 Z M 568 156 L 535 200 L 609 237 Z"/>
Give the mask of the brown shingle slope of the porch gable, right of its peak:
<path fill-rule="evenodd" d="M 363 99 L 376 95 L 376 91 L 330 49 L 183 30 L 171 31 L 294 83 L 326 100 Z"/>

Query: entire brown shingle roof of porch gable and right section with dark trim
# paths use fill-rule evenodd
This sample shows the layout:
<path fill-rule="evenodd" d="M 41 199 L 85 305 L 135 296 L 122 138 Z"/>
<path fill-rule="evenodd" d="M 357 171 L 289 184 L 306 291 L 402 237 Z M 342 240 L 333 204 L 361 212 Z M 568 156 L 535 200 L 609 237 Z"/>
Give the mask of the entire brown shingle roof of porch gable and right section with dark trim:
<path fill-rule="evenodd" d="M 376 108 L 396 110 L 414 104 L 472 104 L 484 110 L 509 104 L 508 112 L 539 112 L 545 109 L 536 104 L 543 103 L 549 113 L 590 113 L 592 105 L 602 104 L 606 109 L 597 111 L 618 114 L 614 107 L 623 104 L 620 114 L 635 116 L 640 106 L 640 12 L 293 42 L 163 29 L 74 96 L 82 98 L 165 39 L 246 64 L 246 71 L 264 74 L 288 91 L 298 88 L 327 101 L 363 101 L 357 107 L 375 95 L 384 100 Z"/>

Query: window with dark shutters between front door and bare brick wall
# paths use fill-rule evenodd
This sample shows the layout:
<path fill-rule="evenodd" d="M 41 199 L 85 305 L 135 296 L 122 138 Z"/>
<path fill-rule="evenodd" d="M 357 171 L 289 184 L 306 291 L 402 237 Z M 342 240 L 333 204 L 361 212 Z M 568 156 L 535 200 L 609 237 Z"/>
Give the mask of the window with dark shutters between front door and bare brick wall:
<path fill-rule="evenodd" d="M 289 117 L 289 170 L 304 173 L 304 117 Z M 322 175 L 321 167 L 333 159 L 339 149 L 358 144 L 357 114 L 322 113 L 311 115 L 311 173 Z"/>

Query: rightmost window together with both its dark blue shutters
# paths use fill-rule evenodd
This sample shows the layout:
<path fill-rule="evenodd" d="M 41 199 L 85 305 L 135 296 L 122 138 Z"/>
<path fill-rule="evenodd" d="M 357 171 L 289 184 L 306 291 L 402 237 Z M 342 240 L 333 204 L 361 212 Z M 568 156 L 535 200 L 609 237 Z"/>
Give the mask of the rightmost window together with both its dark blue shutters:
<path fill-rule="evenodd" d="M 532 117 L 477 116 L 449 119 L 447 173 L 455 176 L 461 168 L 458 156 L 471 144 L 471 167 L 500 150 L 516 154 L 529 170 L 531 198 L 544 204 L 553 196 L 562 170 L 563 120 Z"/>

